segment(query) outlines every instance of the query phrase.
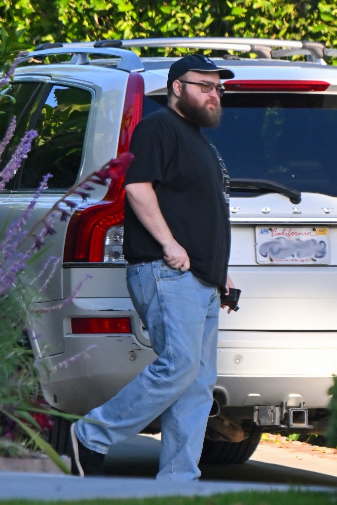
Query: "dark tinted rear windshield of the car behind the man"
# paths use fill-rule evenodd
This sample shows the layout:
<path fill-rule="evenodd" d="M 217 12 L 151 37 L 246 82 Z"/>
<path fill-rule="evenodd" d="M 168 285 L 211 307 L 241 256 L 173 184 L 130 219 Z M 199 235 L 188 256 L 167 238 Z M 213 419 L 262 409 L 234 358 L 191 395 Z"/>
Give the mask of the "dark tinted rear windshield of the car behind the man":
<path fill-rule="evenodd" d="M 301 192 L 337 196 L 337 97 L 225 93 L 221 101 L 220 127 L 204 133 L 220 151 L 231 178 L 268 179 Z M 163 97 L 147 97 L 145 114 L 164 105 Z"/>

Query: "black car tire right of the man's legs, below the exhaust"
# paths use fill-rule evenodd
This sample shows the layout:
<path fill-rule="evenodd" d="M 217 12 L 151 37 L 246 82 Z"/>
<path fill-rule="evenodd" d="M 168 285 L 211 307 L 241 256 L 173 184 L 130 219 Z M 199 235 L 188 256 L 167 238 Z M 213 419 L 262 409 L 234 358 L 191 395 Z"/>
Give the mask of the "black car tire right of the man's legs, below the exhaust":
<path fill-rule="evenodd" d="M 200 459 L 201 465 L 245 463 L 259 445 L 262 430 L 254 426 L 242 442 L 216 441 L 206 438 Z"/>

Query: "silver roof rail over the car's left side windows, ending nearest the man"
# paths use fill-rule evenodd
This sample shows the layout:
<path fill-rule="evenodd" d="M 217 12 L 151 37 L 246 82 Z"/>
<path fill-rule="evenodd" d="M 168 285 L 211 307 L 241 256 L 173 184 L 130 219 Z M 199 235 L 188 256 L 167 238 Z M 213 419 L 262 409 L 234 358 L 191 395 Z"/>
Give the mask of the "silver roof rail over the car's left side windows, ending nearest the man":
<path fill-rule="evenodd" d="M 117 68 L 126 72 L 141 72 L 144 66 L 139 57 L 128 49 L 115 47 L 121 45 L 120 41 L 98 41 L 98 42 L 69 42 L 65 44 L 40 44 L 35 51 L 31 51 L 27 56 L 23 56 L 20 62 L 27 60 L 42 60 L 54 55 L 72 55 L 69 63 L 73 65 L 84 65 L 89 63 L 89 55 L 110 56 L 119 58 Z"/>

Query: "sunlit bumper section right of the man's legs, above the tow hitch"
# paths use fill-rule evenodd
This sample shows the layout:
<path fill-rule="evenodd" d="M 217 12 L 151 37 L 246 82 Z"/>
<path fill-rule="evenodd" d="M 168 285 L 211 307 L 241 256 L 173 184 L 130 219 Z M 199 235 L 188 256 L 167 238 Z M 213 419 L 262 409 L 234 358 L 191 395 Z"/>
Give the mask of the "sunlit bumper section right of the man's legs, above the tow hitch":
<path fill-rule="evenodd" d="M 326 408 L 336 373 L 336 332 L 219 332 L 217 385 L 227 405 Z"/>

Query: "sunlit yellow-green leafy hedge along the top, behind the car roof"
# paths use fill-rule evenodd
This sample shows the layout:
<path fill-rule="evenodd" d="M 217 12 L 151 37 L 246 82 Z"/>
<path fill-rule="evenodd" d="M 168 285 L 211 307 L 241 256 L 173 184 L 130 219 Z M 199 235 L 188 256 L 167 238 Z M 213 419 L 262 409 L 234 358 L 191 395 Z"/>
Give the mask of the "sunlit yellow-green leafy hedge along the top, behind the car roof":
<path fill-rule="evenodd" d="M 30 45 L 208 35 L 310 39 L 334 46 L 336 14 L 329 0 L 0 0 L 0 22 L 16 26 L 20 41 Z"/>

